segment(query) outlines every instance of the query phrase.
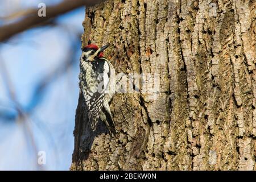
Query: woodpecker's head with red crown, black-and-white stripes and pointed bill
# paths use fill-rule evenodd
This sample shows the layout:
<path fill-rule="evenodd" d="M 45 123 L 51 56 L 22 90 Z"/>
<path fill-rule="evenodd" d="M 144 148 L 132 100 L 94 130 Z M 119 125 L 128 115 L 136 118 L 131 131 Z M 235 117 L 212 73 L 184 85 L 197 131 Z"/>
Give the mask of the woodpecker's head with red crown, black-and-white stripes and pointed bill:
<path fill-rule="evenodd" d="M 98 48 L 95 44 L 89 44 L 82 49 L 82 57 L 86 61 L 95 61 L 103 57 L 103 51 L 109 47 L 109 44 Z"/>

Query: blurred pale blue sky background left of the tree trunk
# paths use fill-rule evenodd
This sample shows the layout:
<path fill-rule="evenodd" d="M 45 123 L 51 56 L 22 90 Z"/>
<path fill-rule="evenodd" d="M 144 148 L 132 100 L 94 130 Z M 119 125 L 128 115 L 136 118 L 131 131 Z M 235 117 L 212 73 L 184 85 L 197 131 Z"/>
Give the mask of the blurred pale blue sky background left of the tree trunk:
<path fill-rule="evenodd" d="M 31 16 L 39 3 L 46 4 L 47 15 L 48 7 L 63 1 L 71 2 L 0 1 L 0 170 L 68 170 L 71 165 L 85 6 L 5 38 L 8 26 Z M 40 165 L 42 151 L 46 164 Z"/>

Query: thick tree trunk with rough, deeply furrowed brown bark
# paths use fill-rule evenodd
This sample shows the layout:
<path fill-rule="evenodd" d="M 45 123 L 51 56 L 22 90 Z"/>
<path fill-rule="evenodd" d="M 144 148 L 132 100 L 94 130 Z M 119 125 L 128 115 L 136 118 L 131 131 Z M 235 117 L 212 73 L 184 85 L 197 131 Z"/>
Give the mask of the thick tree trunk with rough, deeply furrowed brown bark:
<path fill-rule="evenodd" d="M 113 139 L 101 123 L 92 133 L 80 94 L 71 169 L 256 169 L 255 4 L 109 0 L 87 8 L 82 45 L 110 42 L 105 55 L 116 72 L 157 74 L 160 92 L 116 94 Z"/>

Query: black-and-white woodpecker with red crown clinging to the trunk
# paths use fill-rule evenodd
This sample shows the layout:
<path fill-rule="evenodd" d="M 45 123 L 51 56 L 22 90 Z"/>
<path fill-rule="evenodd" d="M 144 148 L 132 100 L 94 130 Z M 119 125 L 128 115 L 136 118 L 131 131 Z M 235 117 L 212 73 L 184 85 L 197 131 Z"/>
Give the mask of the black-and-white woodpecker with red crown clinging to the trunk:
<path fill-rule="evenodd" d="M 110 61 L 103 56 L 103 51 L 108 47 L 109 44 L 101 48 L 88 44 L 82 48 L 79 85 L 92 130 L 96 130 L 100 118 L 110 135 L 115 135 L 115 123 L 109 106 L 115 92 L 115 70 Z"/>

